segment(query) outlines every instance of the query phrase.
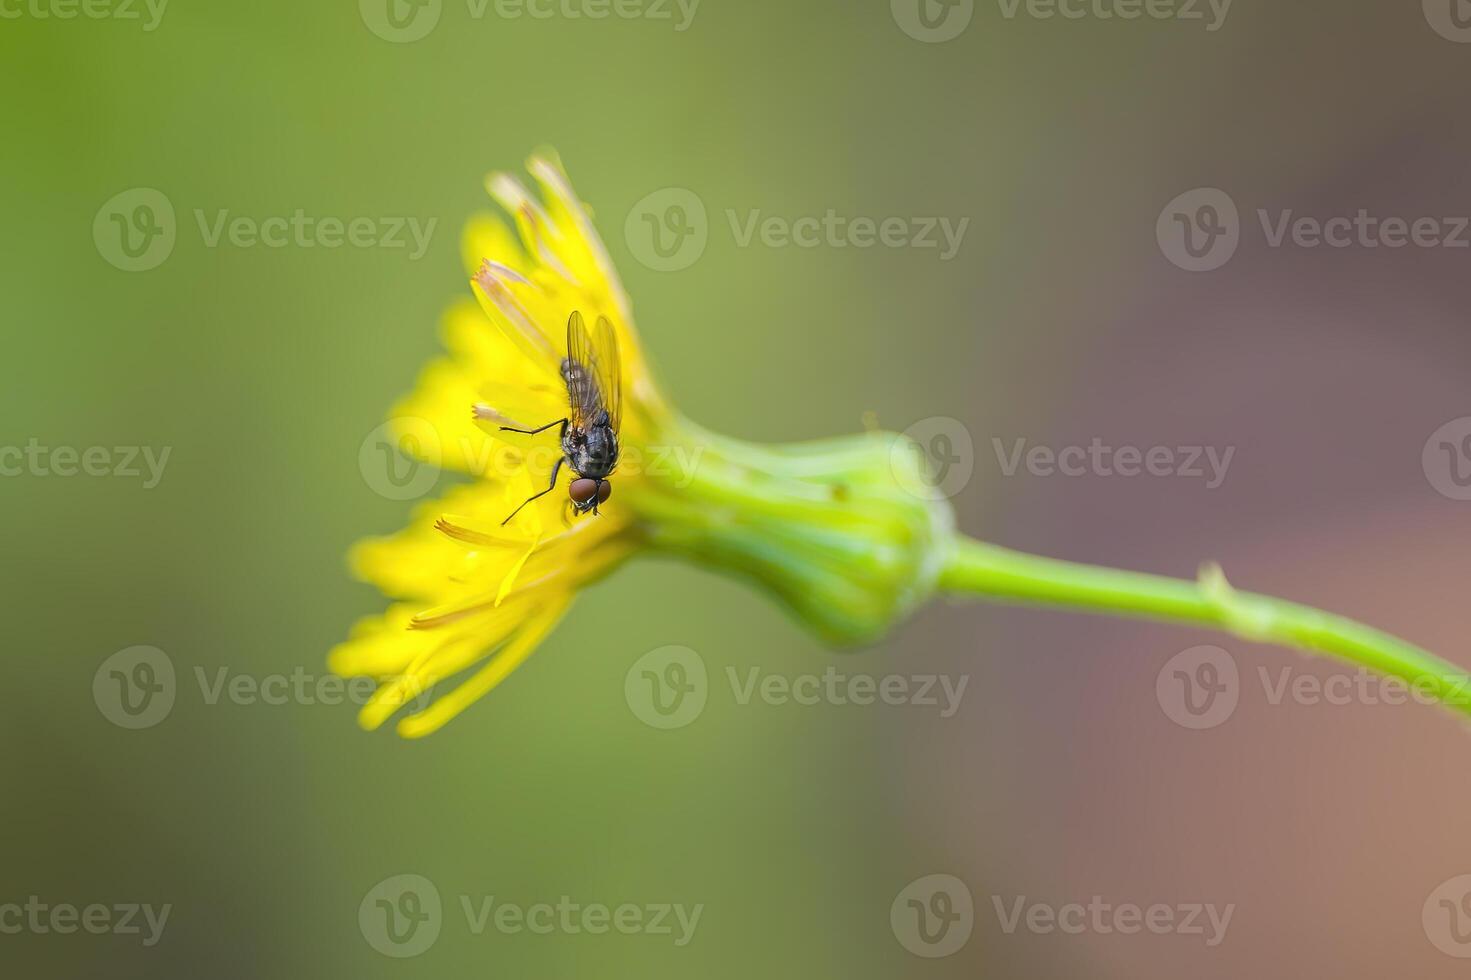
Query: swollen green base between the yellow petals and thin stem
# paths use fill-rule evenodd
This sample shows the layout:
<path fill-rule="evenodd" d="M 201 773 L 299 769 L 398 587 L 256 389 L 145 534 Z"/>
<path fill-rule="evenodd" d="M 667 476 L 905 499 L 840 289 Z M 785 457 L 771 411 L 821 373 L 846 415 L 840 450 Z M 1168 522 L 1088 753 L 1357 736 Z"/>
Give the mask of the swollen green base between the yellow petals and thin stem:
<path fill-rule="evenodd" d="M 955 521 L 906 437 L 759 446 L 683 419 L 662 436 L 697 464 L 630 494 L 653 547 L 765 586 L 836 645 L 878 640 L 934 594 Z"/>

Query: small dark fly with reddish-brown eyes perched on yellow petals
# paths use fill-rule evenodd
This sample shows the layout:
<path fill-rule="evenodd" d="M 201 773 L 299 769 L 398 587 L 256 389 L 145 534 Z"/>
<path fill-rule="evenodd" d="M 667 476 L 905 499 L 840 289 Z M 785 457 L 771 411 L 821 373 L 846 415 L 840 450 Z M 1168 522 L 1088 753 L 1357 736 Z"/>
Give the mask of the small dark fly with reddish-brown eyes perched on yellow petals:
<path fill-rule="evenodd" d="M 618 361 L 618 334 L 613 333 L 613 325 L 606 316 L 597 318 L 596 338 L 587 333 L 583 313 L 574 310 L 568 318 L 562 381 L 566 383 L 566 400 L 571 406 L 566 418 L 547 422 L 541 428 L 500 427 L 503 433 L 524 436 L 544 433 L 553 425 L 562 427 L 562 458 L 552 466 L 552 481 L 547 489 L 527 497 L 500 522 L 502 527 L 521 514 L 521 508 L 556 489 L 556 478 L 562 472 L 563 464 L 578 477 L 568 487 L 568 496 L 572 497 L 572 509 L 577 514 L 588 511 L 597 514 L 597 505 L 606 503 L 613 493 L 613 484 L 608 481 L 608 477 L 618 466 L 622 378 Z"/>

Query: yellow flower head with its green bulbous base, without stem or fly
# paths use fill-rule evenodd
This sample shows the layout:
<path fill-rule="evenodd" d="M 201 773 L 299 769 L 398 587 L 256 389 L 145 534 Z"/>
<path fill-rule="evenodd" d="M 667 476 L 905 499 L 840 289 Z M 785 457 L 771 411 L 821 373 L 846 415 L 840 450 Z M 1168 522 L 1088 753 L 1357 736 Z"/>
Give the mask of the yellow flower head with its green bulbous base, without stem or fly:
<path fill-rule="evenodd" d="M 494 216 L 469 224 L 477 302 L 450 308 L 449 356 L 393 412 L 405 434 L 428 434 L 432 461 L 474 480 L 353 552 L 357 574 L 399 599 L 331 652 L 334 671 L 380 680 L 360 724 L 377 728 L 478 665 L 397 725 L 407 737 L 440 728 L 525 661 L 583 586 L 640 549 L 753 578 L 838 642 L 872 639 L 928 597 L 950 514 L 913 491 L 915 455 L 886 434 L 768 449 L 680 418 L 653 384 L 587 209 L 553 159 L 528 169 L 538 196 L 505 174 L 487 180 L 515 232 Z M 612 324 L 624 390 L 616 496 L 596 518 L 559 493 L 533 499 L 562 455 L 555 427 L 502 431 L 568 415 L 574 313 Z"/>

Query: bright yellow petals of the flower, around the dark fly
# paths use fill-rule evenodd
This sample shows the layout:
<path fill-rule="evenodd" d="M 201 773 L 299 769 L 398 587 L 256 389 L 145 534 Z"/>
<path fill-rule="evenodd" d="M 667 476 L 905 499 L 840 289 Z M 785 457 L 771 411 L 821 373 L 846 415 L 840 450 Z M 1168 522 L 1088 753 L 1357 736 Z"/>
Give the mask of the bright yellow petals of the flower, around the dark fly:
<path fill-rule="evenodd" d="M 393 412 L 400 433 L 428 436 L 428 458 L 477 480 L 419 508 L 405 531 L 353 552 L 360 577 L 403 600 L 360 622 L 331 652 L 334 671 L 382 681 L 360 714 L 366 728 L 494 655 L 452 692 L 403 718 L 399 733 L 424 736 L 443 725 L 505 680 L 556 625 L 577 590 L 622 561 L 637 539 L 627 508 L 574 518 L 568 499 L 555 493 L 502 527 L 516 505 L 544 487 L 535 480 L 546 480 L 560 453 L 555 431 L 500 438 L 499 427 L 534 428 L 566 415 L 559 368 L 571 310 L 594 321 L 608 316 L 619 333 L 625 438 L 637 443 L 665 411 L 633 334 L 628 299 L 585 210 L 552 160 L 534 159 L 531 174 L 540 200 L 505 174 L 488 178 L 519 241 L 494 216 L 466 228 L 463 249 L 480 302 L 449 310 L 443 333 L 450 356 L 431 363 Z M 422 446 L 424 438 L 406 444 Z M 541 461 L 547 465 L 537 468 Z M 637 480 L 635 466 L 619 469 L 619 496 Z"/>

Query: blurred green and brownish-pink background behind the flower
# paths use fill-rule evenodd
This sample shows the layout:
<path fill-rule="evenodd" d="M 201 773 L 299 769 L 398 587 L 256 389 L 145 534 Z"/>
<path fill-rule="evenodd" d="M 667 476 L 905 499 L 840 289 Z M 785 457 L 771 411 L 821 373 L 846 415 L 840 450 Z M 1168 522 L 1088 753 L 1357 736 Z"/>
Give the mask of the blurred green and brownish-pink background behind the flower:
<path fill-rule="evenodd" d="M 905 0 L 703 0 L 687 29 L 652 0 L 644 16 L 568 16 L 590 1 L 534 19 L 393 0 L 400 24 L 437 12 L 413 41 L 385 37 L 388 7 L 369 0 L 172 0 L 154 29 L 143 6 L 100 7 L 131 21 L 0 7 L 0 441 L 171 449 L 153 489 L 0 480 L 0 903 L 172 905 L 152 948 L 0 934 L 4 973 L 1464 976 L 1422 911 L 1471 873 L 1465 728 L 1415 705 L 1271 703 L 1259 671 L 1349 671 L 1206 633 L 956 603 L 834 653 L 743 586 L 641 561 L 419 743 L 359 731 L 350 705 L 207 703 L 196 671 L 319 677 L 381 608 L 343 555 L 410 505 L 375 493 L 359 449 L 466 291 L 457 230 L 487 203 L 484 174 L 538 146 L 560 150 L 665 387 L 702 422 L 794 440 L 869 412 L 893 430 L 953 419 L 974 446 L 955 496 L 969 534 L 1187 577 L 1217 559 L 1242 587 L 1471 665 L 1471 503 L 1422 464 L 1431 433 L 1471 415 L 1471 249 L 1274 249 L 1255 218 L 1471 213 L 1471 46 L 1449 3 L 1237 0 L 1218 29 L 1203 6 L 1203 21 L 1124 21 L 931 4 L 955 32 L 931 43 Z M 93 225 L 137 187 L 172 203 L 177 241 L 127 272 Z M 656 271 L 624 228 L 671 187 L 706 207 L 708 246 Z M 1242 215 L 1209 272 L 1156 240 L 1167 203 L 1199 187 Z M 296 209 L 437 227 L 415 260 L 210 247 L 194 218 Z M 828 209 L 969 225 L 941 260 L 741 246 L 727 216 Z M 1215 489 L 1006 475 L 993 441 L 1094 437 L 1234 458 Z M 1200 643 L 1239 667 L 1239 705 L 1190 730 L 1156 677 Z M 169 717 L 137 731 L 93 695 L 134 645 L 178 672 Z M 630 665 L 666 645 L 712 677 L 675 731 L 624 700 Z M 834 664 L 968 689 L 940 718 L 740 705 L 724 681 Z M 359 927 L 365 895 L 399 874 L 431 880 L 446 909 L 409 959 Z M 946 958 L 915 956 L 890 924 L 928 874 L 975 905 Z M 563 895 L 703 912 L 675 946 L 474 934 L 460 909 Z M 1234 912 L 1215 946 L 1008 933 L 996 901 L 1019 896 Z"/>

